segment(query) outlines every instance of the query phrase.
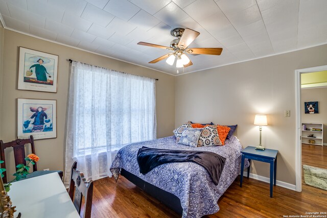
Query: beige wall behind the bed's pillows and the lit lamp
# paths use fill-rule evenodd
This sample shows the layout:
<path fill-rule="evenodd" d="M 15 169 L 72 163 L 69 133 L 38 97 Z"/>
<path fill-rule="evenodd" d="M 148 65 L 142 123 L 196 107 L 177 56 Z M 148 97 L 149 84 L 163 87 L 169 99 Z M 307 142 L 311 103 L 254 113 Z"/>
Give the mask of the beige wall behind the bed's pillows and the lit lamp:
<path fill-rule="evenodd" d="M 327 45 L 176 77 L 175 127 L 188 120 L 238 124 L 243 147 L 259 143 L 256 113 L 268 114 L 263 146 L 279 151 L 277 180 L 295 184 L 295 69 L 325 65 Z M 284 111 L 291 110 L 291 117 Z M 269 177 L 269 165 L 251 172 Z"/>

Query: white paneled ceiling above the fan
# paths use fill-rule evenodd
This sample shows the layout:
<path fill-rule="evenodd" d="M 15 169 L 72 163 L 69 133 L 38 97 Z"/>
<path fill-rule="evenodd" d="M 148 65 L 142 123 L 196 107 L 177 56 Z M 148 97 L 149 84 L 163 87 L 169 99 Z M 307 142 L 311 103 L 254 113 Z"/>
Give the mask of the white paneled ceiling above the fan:
<path fill-rule="evenodd" d="M 0 0 L 0 14 L 7 29 L 173 75 L 148 63 L 169 51 L 136 43 L 169 46 L 183 27 L 200 32 L 189 47 L 223 47 L 189 55 L 185 73 L 327 43 L 326 0 Z"/>

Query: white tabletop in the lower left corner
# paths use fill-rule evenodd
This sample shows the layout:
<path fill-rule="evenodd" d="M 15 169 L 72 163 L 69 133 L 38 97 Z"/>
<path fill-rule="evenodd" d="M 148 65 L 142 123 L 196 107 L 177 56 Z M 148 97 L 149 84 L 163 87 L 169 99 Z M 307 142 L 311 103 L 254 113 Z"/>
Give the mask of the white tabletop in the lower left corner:
<path fill-rule="evenodd" d="M 12 183 L 8 192 L 22 218 L 80 218 L 58 173 Z"/>

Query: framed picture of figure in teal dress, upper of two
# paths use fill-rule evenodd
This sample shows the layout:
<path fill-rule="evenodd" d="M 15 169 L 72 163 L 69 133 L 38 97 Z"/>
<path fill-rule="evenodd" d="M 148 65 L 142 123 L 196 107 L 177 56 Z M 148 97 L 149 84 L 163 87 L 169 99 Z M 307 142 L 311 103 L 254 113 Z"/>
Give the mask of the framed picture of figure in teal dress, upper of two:
<path fill-rule="evenodd" d="M 19 47 L 18 89 L 57 92 L 58 55 Z"/>

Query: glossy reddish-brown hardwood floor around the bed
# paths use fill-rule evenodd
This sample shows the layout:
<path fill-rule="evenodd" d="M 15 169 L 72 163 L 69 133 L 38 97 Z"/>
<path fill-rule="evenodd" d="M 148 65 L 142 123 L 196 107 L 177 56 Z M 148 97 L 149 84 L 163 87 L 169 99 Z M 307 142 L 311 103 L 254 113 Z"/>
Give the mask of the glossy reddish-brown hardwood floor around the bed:
<path fill-rule="evenodd" d="M 302 164 L 327 168 L 327 147 L 302 145 Z M 238 177 L 219 199 L 220 210 L 204 217 L 283 217 L 327 212 L 327 191 L 302 182 L 302 192 Z M 115 183 L 104 178 L 94 183 L 92 217 L 180 217 L 124 177 Z"/>

